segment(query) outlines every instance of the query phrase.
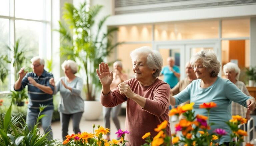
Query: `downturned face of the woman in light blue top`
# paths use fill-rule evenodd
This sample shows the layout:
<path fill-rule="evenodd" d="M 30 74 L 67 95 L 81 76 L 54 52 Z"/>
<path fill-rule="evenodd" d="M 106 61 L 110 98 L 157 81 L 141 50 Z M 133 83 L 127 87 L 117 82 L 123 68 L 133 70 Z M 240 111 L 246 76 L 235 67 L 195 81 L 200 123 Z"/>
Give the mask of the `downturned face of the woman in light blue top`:
<path fill-rule="evenodd" d="M 203 66 L 200 61 L 196 61 L 193 65 L 194 72 L 196 74 L 196 78 L 203 79 L 208 78 L 210 76 L 210 72 Z"/>

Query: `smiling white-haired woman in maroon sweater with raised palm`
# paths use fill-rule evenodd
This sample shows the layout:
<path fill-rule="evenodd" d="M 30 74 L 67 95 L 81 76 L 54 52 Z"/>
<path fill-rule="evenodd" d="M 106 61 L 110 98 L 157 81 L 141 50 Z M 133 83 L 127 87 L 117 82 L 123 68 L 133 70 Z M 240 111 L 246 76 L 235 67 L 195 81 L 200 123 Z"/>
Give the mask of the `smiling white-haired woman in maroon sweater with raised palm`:
<path fill-rule="evenodd" d="M 134 77 L 117 88 L 110 90 L 113 72 L 108 64 L 99 64 L 97 74 L 102 84 L 101 103 L 105 107 L 114 107 L 127 101 L 125 129 L 130 134 L 125 136 L 127 146 L 139 146 L 145 143 L 141 137 L 146 132 L 155 136 L 154 128 L 164 120 L 169 121 L 170 86 L 158 79 L 163 66 L 162 56 L 150 47 L 137 48 L 130 54 Z M 168 122 L 167 134 L 171 135 Z"/>

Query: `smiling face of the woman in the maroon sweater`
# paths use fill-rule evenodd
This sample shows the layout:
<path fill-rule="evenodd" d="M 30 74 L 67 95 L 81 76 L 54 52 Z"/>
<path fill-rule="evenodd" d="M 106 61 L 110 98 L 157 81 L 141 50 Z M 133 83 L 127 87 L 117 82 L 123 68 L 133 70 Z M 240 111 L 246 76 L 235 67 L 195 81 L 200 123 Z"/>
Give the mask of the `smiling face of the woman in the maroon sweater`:
<path fill-rule="evenodd" d="M 134 77 L 139 82 L 151 81 L 155 69 L 150 69 L 147 65 L 147 54 L 139 54 L 133 60 Z"/>

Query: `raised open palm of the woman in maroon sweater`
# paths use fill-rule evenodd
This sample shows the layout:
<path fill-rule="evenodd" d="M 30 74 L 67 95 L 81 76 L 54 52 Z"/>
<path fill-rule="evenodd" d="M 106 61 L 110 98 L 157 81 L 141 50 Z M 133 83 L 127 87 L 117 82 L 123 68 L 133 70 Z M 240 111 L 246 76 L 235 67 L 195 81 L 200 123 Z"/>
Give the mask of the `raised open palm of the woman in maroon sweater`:
<path fill-rule="evenodd" d="M 108 64 L 101 62 L 101 64 L 99 64 L 99 70 L 97 69 L 96 72 L 102 86 L 110 86 L 113 81 L 113 71 L 109 72 Z"/>

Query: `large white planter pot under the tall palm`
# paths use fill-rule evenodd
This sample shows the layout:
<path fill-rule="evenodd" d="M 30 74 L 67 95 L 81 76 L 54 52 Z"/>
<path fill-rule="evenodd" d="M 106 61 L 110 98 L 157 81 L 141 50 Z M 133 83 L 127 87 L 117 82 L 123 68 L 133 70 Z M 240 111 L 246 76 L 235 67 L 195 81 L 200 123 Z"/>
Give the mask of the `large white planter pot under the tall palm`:
<path fill-rule="evenodd" d="M 100 101 L 84 101 L 83 118 L 85 120 L 98 120 L 102 114 Z"/>

